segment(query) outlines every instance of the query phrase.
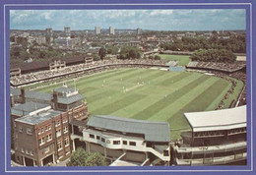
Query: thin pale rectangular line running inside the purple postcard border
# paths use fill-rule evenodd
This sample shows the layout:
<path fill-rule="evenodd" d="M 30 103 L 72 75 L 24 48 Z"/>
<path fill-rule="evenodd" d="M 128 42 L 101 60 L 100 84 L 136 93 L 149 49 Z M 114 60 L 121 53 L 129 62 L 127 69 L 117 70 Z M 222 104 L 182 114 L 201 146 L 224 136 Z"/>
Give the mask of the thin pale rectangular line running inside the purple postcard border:
<path fill-rule="evenodd" d="M 8 171 L 7 170 L 7 161 L 6 161 L 6 151 L 5 151 L 5 172 L 219 172 L 219 171 L 253 171 L 253 130 L 252 130 L 252 3 L 152 3 L 152 4 L 5 4 L 4 5 L 4 121 L 5 121 L 5 150 L 7 149 L 6 146 L 6 16 L 5 16 L 5 8 L 6 7 L 15 7 L 15 6 L 24 6 L 24 7 L 35 7 L 35 6 L 197 6 L 197 5 L 203 5 L 203 6 L 212 6 L 212 5 L 249 5 L 250 7 L 250 61 L 251 61 L 251 69 L 250 69 L 250 78 L 251 78 L 251 169 L 250 170 L 53 170 L 53 171 Z M 243 9 L 243 8 L 241 8 Z M 29 9 L 30 10 L 30 9 Z M 45 9 L 46 10 L 46 9 Z M 52 9 L 53 10 L 53 9 Z M 61 9 L 58 9 L 61 10 Z M 70 10 L 70 9 L 63 9 L 63 10 Z M 76 10 L 76 9 L 75 9 Z M 90 10 L 90 9 L 77 9 L 77 10 Z M 97 10 L 97 9 L 94 9 Z M 99 10 L 99 9 L 98 9 Z M 104 10 L 114 10 L 114 9 L 104 9 Z M 116 10 L 123 10 L 123 9 L 116 9 Z M 125 9 L 130 10 L 130 9 Z M 134 10 L 142 10 L 142 9 L 134 9 Z M 154 9 L 152 9 L 154 10 Z M 161 10 L 168 10 L 168 9 L 161 9 Z M 184 9 L 185 10 L 185 9 Z M 211 9 L 206 9 L 211 10 Z M 10 17 L 9 17 L 10 18 Z M 247 30 L 247 29 L 246 29 Z"/>

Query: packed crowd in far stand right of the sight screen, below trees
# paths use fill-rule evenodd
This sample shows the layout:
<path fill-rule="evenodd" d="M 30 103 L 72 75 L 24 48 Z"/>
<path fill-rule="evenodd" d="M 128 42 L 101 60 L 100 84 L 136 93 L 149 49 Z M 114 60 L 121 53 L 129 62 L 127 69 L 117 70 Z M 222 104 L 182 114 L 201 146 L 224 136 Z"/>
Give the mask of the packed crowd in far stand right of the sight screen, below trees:
<path fill-rule="evenodd" d="M 216 62 L 197 62 L 191 61 L 188 63 L 187 68 L 199 68 L 207 70 L 218 70 L 224 72 L 235 72 L 245 67 L 245 63 L 216 63 Z"/>

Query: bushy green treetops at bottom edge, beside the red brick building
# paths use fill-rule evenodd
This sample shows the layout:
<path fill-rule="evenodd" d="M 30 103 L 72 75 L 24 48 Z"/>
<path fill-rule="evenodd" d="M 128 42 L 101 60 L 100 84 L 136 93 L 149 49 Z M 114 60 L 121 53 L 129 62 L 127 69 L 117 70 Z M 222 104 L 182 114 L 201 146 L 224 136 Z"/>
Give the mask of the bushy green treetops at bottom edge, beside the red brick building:
<path fill-rule="evenodd" d="M 70 156 L 67 166 L 105 166 L 105 159 L 99 152 L 88 153 L 82 147 L 78 147 Z"/>

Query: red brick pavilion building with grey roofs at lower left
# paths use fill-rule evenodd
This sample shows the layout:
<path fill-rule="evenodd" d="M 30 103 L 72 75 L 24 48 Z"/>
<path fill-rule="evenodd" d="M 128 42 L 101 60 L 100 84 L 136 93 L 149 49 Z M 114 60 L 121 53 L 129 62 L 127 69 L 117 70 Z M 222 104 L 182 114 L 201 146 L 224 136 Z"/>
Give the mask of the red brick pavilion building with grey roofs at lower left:
<path fill-rule="evenodd" d="M 85 97 L 69 87 L 56 88 L 52 95 L 24 89 L 11 89 L 11 93 L 17 99 L 11 100 L 15 160 L 25 166 L 43 166 L 67 158 L 73 149 L 70 122 L 88 119 Z"/>

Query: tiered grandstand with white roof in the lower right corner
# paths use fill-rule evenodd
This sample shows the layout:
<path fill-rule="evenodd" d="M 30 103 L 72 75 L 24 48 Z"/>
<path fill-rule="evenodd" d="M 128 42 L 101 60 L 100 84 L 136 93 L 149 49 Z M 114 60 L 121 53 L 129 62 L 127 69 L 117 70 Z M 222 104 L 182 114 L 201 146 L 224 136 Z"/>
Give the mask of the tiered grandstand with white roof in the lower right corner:
<path fill-rule="evenodd" d="M 246 164 L 246 105 L 185 113 L 192 131 L 173 147 L 177 165 Z"/>

